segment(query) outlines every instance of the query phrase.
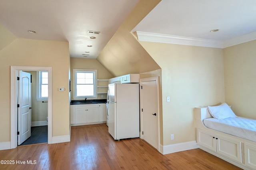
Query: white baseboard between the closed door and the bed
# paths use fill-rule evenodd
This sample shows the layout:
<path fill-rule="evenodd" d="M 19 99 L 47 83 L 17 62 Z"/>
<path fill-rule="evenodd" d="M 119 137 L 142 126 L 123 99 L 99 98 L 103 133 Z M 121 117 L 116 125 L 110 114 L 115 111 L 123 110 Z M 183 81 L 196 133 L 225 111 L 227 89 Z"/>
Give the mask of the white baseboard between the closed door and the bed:
<path fill-rule="evenodd" d="M 184 142 L 184 143 L 176 143 L 173 145 L 160 145 L 159 152 L 162 154 L 169 154 L 174 152 L 180 152 L 184 150 L 197 149 L 199 146 L 196 141 Z"/>

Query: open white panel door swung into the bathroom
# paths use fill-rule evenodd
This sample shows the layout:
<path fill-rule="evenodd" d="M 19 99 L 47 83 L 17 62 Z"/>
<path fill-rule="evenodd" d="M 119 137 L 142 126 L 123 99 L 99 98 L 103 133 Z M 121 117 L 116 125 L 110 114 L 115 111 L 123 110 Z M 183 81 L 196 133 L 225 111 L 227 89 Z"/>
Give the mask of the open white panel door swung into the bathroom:
<path fill-rule="evenodd" d="M 18 77 L 18 145 L 31 136 L 31 75 L 19 71 Z"/>

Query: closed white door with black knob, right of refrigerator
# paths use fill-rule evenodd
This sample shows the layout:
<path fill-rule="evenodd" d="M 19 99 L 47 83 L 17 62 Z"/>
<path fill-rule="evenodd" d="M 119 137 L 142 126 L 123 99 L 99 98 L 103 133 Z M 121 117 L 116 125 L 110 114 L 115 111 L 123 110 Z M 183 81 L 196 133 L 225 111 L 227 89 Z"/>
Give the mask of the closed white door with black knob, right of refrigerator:
<path fill-rule="evenodd" d="M 157 77 L 140 79 L 141 137 L 156 149 L 158 149 L 159 118 L 157 80 Z"/>

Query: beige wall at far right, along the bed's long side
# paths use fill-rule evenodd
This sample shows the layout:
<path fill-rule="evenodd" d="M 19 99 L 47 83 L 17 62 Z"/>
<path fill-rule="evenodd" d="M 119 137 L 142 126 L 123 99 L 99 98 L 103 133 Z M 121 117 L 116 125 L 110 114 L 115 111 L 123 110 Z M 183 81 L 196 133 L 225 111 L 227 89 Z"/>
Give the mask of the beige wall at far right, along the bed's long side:
<path fill-rule="evenodd" d="M 256 119 L 256 40 L 223 51 L 226 102 L 236 115 Z"/>

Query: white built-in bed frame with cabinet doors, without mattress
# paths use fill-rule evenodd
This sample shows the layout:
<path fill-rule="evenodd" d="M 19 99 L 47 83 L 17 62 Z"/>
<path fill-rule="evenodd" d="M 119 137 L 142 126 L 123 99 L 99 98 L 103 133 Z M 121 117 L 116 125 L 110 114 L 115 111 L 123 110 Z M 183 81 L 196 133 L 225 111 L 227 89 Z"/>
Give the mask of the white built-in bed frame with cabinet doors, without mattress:
<path fill-rule="evenodd" d="M 200 149 L 245 170 L 256 170 L 256 142 L 205 127 L 203 120 L 212 117 L 208 107 L 196 107 L 194 117 Z"/>

